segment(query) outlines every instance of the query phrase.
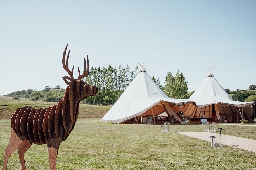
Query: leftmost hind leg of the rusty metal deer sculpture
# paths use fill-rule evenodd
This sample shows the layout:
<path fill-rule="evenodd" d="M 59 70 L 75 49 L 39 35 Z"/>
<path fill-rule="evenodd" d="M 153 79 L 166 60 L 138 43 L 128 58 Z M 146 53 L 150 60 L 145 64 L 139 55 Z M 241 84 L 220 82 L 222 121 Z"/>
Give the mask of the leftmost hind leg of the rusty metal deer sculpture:
<path fill-rule="evenodd" d="M 6 170 L 9 157 L 19 147 L 20 144 L 22 144 L 22 140 L 19 139 L 18 135 L 11 128 L 11 139 L 8 146 L 5 149 L 3 170 Z"/>

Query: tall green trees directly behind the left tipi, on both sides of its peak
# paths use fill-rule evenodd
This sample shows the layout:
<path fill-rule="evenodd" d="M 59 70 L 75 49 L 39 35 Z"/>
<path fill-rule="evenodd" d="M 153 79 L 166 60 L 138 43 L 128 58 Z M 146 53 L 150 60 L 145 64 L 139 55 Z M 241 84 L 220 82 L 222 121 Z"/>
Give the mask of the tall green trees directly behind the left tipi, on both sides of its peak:
<path fill-rule="evenodd" d="M 129 66 L 123 67 L 120 65 L 117 69 L 111 65 L 101 69 L 91 67 L 89 74 L 84 81 L 90 85 L 98 87 L 99 91 L 95 96 L 84 99 L 83 103 L 93 105 L 113 105 L 121 96 L 123 91 L 132 82 L 138 73 L 138 66 L 133 71 L 130 71 Z M 161 85 L 160 79 L 154 76 L 152 80 L 172 98 L 189 98 L 187 94 L 188 82 L 182 72 L 177 71 L 173 76 L 172 72 L 168 72 L 165 78 L 165 86 Z"/>

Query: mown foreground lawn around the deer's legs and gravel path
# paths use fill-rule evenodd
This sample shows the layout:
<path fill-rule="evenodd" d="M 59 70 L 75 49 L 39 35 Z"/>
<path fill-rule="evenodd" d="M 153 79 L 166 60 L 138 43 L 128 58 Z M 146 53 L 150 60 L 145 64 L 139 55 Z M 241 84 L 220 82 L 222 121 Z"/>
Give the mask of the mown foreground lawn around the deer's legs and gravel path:
<path fill-rule="evenodd" d="M 256 153 L 207 142 L 178 133 L 160 133 L 160 125 L 98 123 L 78 119 L 61 143 L 57 169 L 254 169 Z M 256 127 L 220 126 L 226 134 L 256 139 Z M 170 131 L 203 131 L 204 125 L 171 125 Z M 0 168 L 10 139 L 10 120 L 0 120 Z M 46 145 L 25 153 L 27 169 L 49 169 Z M 17 151 L 9 169 L 20 169 Z"/>

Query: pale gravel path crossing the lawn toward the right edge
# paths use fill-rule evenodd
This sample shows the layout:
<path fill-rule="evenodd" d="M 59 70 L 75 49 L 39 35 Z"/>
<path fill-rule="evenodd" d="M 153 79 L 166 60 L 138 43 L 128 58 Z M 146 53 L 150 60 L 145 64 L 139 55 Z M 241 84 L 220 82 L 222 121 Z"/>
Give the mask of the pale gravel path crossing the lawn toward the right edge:
<path fill-rule="evenodd" d="M 220 135 L 218 133 L 211 133 L 211 132 L 178 132 L 179 134 L 198 138 L 201 140 L 212 141 L 210 136 L 215 136 L 217 143 L 220 141 Z M 221 143 L 224 145 L 226 141 L 226 145 L 233 148 L 240 148 L 247 151 L 256 152 L 256 140 L 246 139 L 242 137 L 235 137 L 226 135 L 226 139 L 224 135 L 221 135 Z"/>

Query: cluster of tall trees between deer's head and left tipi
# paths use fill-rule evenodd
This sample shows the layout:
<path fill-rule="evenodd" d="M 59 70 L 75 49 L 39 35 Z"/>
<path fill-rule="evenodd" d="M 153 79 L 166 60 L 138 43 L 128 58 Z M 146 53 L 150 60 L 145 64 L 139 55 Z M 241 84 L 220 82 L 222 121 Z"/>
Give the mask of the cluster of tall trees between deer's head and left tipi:
<path fill-rule="evenodd" d="M 113 68 L 111 65 L 101 69 L 91 67 L 89 74 L 83 80 L 90 85 L 98 88 L 98 93 L 83 101 L 87 104 L 111 105 L 114 104 L 127 86 L 137 75 L 138 66 L 134 71 L 130 71 L 122 65 L 119 68 Z"/>

